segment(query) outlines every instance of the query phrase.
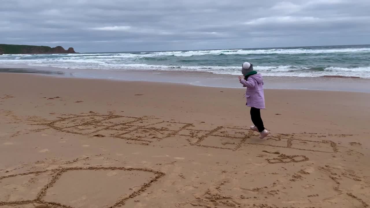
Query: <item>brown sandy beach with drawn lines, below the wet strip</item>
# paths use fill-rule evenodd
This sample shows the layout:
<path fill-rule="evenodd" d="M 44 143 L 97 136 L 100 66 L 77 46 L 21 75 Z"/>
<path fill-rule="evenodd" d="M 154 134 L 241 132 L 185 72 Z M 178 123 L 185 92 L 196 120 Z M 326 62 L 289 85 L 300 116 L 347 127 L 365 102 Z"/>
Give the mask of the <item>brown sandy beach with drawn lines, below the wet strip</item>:
<path fill-rule="evenodd" d="M 236 79 L 237 81 L 237 79 Z M 0 74 L 0 208 L 370 204 L 370 94 Z"/>

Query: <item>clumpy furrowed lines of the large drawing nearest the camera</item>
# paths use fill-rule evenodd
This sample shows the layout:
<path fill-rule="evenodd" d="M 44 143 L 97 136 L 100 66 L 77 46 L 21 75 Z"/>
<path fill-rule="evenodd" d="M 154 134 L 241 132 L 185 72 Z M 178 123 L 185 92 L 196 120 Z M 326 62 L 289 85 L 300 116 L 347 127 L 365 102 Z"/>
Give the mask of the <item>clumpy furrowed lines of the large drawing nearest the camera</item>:
<path fill-rule="evenodd" d="M 78 171 L 78 170 L 123 170 L 123 171 L 145 171 L 145 172 L 152 172 L 155 174 L 155 177 L 151 180 L 145 182 L 137 191 L 133 191 L 130 195 L 128 195 L 125 198 L 122 198 L 115 202 L 113 205 L 109 206 L 108 208 L 114 208 L 114 207 L 120 207 L 122 205 L 125 205 L 125 202 L 128 199 L 134 198 L 141 194 L 141 192 L 144 192 L 146 188 L 150 187 L 154 182 L 158 181 L 159 178 L 163 177 L 165 175 L 164 172 L 160 171 L 154 171 L 149 168 L 125 168 L 125 167 L 70 167 L 70 168 L 61 168 L 61 169 L 53 169 L 53 170 L 45 170 L 45 171 L 33 171 L 33 172 L 26 172 L 21 174 L 13 174 L 13 175 L 6 175 L 0 177 L 0 182 L 4 178 L 11 178 L 16 177 L 20 175 L 30 175 L 30 174 L 41 174 L 44 172 L 54 172 L 53 177 L 51 177 L 51 180 L 38 192 L 36 198 L 32 200 L 22 200 L 22 201 L 0 201 L 0 206 L 3 205 L 21 205 L 21 204 L 31 204 L 31 203 L 40 203 L 44 205 L 57 205 L 59 207 L 63 208 L 74 208 L 68 205 L 64 205 L 58 202 L 52 202 L 52 201 L 44 201 L 43 197 L 46 195 L 47 190 L 55 184 L 55 182 L 63 175 L 63 173 L 67 171 Z"/>

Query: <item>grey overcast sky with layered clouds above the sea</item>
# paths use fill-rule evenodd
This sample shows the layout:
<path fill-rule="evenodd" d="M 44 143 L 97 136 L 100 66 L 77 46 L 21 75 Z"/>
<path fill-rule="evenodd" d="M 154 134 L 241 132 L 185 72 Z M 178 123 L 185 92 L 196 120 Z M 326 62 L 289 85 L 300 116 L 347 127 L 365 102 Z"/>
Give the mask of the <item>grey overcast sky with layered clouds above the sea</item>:
<path fill-rule="evenodd" d="M 0 0 L 0 43 L 78 52 L 370 44 L 370 0 Z"/>

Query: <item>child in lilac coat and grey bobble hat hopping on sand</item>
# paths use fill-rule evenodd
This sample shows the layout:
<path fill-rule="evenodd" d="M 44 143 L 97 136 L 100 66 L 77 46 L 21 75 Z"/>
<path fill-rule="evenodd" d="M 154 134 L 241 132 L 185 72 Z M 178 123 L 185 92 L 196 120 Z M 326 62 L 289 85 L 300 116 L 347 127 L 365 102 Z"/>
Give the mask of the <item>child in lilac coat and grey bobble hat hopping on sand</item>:
<path fill-rule="evenodd" d="M 254 126 L 250 129 L 260 132 L 259 138 L 263 139 L 269 132 L 263 127 L 260 109 L 265 109 L 265 95 L 263 94 L 263 77 L 257 71 L 253 70 L 253 64 L 248 62 L 242 65 L 242 74 L 239 76 L 239 81 L 243 87 L 247 87 L 245 97 L 247 98 L 247 106 L 250 107 L 250 117 Z"/>

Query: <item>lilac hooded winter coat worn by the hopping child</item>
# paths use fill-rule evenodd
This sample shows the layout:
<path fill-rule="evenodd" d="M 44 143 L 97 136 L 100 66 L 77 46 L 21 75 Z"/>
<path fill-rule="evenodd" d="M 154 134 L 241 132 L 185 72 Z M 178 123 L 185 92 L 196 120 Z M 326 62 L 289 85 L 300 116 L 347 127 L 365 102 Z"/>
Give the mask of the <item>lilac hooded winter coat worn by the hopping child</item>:
<path fill-rule="evenodd" d="M 265 109 L 265 95 L 263 94 L 263 77 L 261 74 L 254 74 L 248 77 L 247 80 L 242 79 L 240 83 L 243 87 L 247 87 L 245 97 L 247 98 L 247 106 Z"/>

